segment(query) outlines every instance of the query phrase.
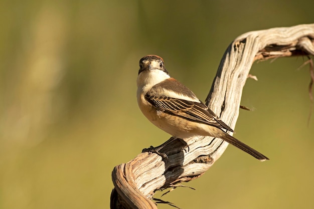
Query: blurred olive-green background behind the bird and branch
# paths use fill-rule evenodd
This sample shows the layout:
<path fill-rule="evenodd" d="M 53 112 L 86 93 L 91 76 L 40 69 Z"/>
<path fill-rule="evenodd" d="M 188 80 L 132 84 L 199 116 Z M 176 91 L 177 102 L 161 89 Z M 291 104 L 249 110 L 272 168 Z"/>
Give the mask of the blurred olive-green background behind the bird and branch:
<path fill-rule="evenodd" d="M 108 208 L 111 171 L 170 136 L 136 103 L 138 60 L 165 59 L 204 100 L 237 36 L 314 23 L 308 1 L 0 2 L 0 208 Z M 305 57 L 254 64 L 236 137 L 201 178 L 163 197 L 188 208 L 314 208 Z M 159 194 L 158 194 L 159 195 Z M 157 196 L 158 196 L 157 195 Z M 159 208 L 172 208 L 159 205 Z"/>

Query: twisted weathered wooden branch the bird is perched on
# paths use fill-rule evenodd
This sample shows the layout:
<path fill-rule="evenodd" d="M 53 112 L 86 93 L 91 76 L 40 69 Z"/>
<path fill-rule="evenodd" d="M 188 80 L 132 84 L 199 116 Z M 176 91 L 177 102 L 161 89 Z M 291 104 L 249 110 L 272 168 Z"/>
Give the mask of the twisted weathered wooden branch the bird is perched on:
<path fill-rule="evenodd" d="M 206 104 L 234 128 L 242 90 L 253 62 L 304 55 L 314 55 L 314 24 L 243 34 L 226 50 Z M 184 141 L 188 147 L 178 139 L 161 150 L 168 160 L 144 152 L 117 165 L 112 171 L 111 208 L 157 208 L 150 200 L 156 190 L 200 177 L 228 146 L 213 137 L 198 136 Z"/>

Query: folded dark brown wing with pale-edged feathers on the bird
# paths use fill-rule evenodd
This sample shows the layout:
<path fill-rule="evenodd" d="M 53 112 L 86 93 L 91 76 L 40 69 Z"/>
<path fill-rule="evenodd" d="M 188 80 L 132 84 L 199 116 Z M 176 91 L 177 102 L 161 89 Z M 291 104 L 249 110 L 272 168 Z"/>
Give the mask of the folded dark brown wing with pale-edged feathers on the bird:
<path fill-rule="evenodd" d="M 187 120 L 205 123 L 218 128 L 234 132 L 227 124 L 209 109 L 203 102 L 194 102 L 184 99 L 171 98 L 167 96 L 153 96 L 149 92 L 145 99 L 161 111 L 180 116 Z"/>

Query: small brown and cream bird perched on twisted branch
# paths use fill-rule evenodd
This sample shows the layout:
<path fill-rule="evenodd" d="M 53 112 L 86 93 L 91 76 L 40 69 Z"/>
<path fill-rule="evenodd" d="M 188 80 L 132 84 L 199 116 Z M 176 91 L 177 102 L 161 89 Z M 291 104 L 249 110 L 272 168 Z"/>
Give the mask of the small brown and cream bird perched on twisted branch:
<path fill-rule="evenodd" d="M 143 115 L 175 138 L 212 136 L 242 149 L 260 161 L 269 158 L 226 131 L 234 132 L 181 82 L 172 78 L 164 59 L 147 55 L 139 60 L 137 103 Z M 226 130 L 226 131 L 225 131 Z"/>

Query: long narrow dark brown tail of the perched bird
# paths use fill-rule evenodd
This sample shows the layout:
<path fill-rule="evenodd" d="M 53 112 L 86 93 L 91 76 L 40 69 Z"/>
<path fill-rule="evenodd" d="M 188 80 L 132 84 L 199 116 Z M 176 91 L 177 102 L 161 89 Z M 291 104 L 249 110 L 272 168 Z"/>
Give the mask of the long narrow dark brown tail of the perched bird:
<path fill-rule="evenodd" d="M 246 145 L 245 143 L 239 141 L 238 139 L 234 138 L 233 136 L 230 136 L 228 133 L 224 132 L 223 130 L 221 130 L 221 131 L 222 132 L 220 132 L 220 135 L 221 135 L 220 138 L 225 140 L 229 144 L 232 144 L 232 145 L 242 149 L 243 151 L 245 151 L 246 153 L 252 155 L 253 157 L 255 157 L 256 159 L 258 159 L 260 161 L 269 160 L 269 158 L 266 157 L 265 155 L 263 155 L 262 153 L 256 151 L 252 147 L 250 147 L 250 146 Z"/>

